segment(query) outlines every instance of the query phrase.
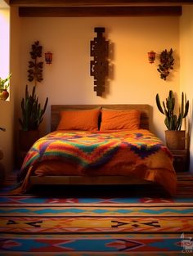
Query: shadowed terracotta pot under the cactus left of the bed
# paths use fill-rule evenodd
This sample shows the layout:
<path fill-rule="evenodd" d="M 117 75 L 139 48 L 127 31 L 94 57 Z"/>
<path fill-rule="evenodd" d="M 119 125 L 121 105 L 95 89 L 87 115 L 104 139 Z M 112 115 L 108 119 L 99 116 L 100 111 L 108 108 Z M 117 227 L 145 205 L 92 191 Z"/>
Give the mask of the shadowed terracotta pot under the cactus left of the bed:
<path fill-rule="evenodd" d="M 30 147 L 37 141 L 39 138 L 39 130 L 30 130 L 30 131 L 19 131 L 19 146 L 20 150 L 29 150 Z"/>

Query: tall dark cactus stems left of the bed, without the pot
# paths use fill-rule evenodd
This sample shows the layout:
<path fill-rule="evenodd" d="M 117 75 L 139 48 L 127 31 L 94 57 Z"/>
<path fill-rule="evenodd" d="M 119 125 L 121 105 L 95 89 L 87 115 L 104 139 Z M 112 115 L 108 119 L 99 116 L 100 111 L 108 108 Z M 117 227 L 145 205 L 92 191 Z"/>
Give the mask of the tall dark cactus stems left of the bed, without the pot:
<path fill-rule="evenodd" d="M 32 94 L 29 95 L 28 85 L 25 88 L 25 98 L 21 101 L 22 119 L 19 118 L 21 128 L 24 131 L 36 130 L 39 124 L 43 121 L 43 115 L 47 108 L 48 98 L 46 99 L 43 108 L 38 103 L 38 97 L 35 94 L 35 86 Z"/>

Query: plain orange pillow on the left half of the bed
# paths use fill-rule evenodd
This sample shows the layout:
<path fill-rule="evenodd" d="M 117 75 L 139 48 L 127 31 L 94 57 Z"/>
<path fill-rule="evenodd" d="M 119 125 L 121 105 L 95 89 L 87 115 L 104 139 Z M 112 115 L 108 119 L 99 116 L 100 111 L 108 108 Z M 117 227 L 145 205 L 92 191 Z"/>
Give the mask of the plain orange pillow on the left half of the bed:
<path fill-rule="evenodd" d="M 57 130 L 96 131 L 100 113 L 100 109 L 61 111 L 61 120 Z"/>

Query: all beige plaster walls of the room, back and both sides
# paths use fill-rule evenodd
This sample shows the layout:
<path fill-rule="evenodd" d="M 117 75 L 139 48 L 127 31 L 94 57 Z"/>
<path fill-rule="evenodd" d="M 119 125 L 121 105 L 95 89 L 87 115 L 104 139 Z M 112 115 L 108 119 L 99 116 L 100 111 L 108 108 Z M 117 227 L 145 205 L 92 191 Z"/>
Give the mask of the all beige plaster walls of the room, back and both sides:
<path fill-rule="evenodd" d="M 20 98 L 28 83 L 29 51 L 34 41 L 40 41 L 43 52 L 53 52 L 53 64 L 44 65 L 44 80 L 38 84 L 41 101 L 49 97 L 43 133 L 49 131 L 51 104 L 147 103 L 153 110 L 150 129 L 164 140 L 164 115 L 155 106 L 155 94 L 159 92 L 164 99 L 169 89 L 177 93 L 184 91 L 192 101 L 192 14 L 193 7 L 186 6 L 180 18 L 19 18 L 17 9 L 11 7 L 11 97 L 10 101 L 0 102 L 0 121 L 7 128 L 7 132 L 0 134 L 7 172 L 13 164 Z M 93 30 L 96 26 L 105 27 L 105 38 L 110 40 L 112 49 L 113 71 L 104 97 L 96 97 L 93 78 L 89 75 L 89 44 L 96 35 Z M 159 79 L 156 70 L 158 59 L 150 65 L 147 52 L 160 53 L 170 47 L 174 50 L 175 66 L 165 82 Z M 191 112 L 192 102 L 189 124 Z M 191 142 L 191 169 L 192 158 Z"/>

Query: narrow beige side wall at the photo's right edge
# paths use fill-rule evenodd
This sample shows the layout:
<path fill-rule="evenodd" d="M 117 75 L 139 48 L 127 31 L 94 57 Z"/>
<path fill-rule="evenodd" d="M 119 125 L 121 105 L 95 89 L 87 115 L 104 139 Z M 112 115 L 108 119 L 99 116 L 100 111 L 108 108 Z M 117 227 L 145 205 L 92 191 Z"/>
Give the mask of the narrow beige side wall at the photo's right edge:
<path fill-rule="evenodd" d="M 183 15 L 180 20 L 180 55 L 181 55 L 181 79 L 180 88 L 181 92 L 186 92 L 186 96 L 191 103 L 189 116 L 187 119 L 187 128 L 191 137 L 190 145 L 190 170 L 193 172 L 193 135 L 192 135 L 192 103 L 193 103 L 193 7 L 183 7 Z"/>

